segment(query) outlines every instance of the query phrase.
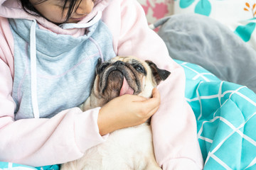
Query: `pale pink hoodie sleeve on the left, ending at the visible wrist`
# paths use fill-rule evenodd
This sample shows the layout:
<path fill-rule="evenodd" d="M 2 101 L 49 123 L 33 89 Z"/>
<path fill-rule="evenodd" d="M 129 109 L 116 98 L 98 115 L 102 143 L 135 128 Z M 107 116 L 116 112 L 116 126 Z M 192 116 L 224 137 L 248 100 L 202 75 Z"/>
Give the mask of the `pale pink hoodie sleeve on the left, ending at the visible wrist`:
<path fill-rule="evenodd" d="M 0 162 L 60 164 L 78 159 L 86 149 L 104 142 L 107 136 L 102 137 L 97 126 L 100 108 L 85 113 L 71 108 L 53 118 L 14 121 L 13 50 L 8 21 L 0 17 Z"/>

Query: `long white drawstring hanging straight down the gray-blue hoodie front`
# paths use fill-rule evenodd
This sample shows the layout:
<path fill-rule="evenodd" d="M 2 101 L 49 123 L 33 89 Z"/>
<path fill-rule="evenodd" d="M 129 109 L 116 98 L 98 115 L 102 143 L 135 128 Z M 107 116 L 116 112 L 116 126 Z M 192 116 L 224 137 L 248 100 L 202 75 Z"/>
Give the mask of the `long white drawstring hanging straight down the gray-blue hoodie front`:
<path fill-rule="evenodd" d="M 39 118 L 37 79 L 36 79 L 36 20 L 31 24 L 30 32 L 30 57 L 31 57 L 31 101 L 34 118 Z"/>

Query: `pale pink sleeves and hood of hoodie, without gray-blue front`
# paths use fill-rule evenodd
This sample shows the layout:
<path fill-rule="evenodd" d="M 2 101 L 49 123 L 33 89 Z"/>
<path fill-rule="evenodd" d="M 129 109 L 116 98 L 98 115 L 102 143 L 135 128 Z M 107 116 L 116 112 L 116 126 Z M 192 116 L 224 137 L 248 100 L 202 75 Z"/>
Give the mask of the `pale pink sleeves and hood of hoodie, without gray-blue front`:
<path fill-rule="evenodd" d="M 41 29 L 80 36 L 84 28 L 63 30 L 44 18 L 28 15 L 17 0 L 0 0 L 0 161 L 44 166 L 82 157 L 86 149 L 107 140 L 97 127 L 99 108 L 82 113 L 70 108 L 53 118 L 14 121 L 16 103 L 11 97 L 14 82 L 14 39 L 7 18 L 36 19 Z M 164 42 L 147 26 L 136 0 L 97 0 L 80 23 L 102 11 L 102 21 L 113 35 L 117 55 L 151 60 L 171 76 L 161 82 L 161 106 L 151 120 L 156 160 L 162 169 L 203 169 L 196 137 L 196 119 L 184 98 L 185 74 L 169 57 Z"/>

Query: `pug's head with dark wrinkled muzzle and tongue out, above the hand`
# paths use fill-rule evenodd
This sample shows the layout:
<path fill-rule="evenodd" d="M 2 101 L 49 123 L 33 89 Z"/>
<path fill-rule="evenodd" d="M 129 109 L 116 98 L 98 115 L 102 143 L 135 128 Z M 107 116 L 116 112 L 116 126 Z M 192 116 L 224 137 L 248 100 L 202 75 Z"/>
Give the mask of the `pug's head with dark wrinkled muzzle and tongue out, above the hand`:
<path fill-rule="evenodd" d="M 103 106 L 124 94 L 149 98 L 152 89 L 169 77 L 169 74 L 171 73 L 159 69 L 153 62 L 139 60 L 136 57 L 118 56 L 107 62 L 99 61 L 92 92 L 82 110 Z"/>

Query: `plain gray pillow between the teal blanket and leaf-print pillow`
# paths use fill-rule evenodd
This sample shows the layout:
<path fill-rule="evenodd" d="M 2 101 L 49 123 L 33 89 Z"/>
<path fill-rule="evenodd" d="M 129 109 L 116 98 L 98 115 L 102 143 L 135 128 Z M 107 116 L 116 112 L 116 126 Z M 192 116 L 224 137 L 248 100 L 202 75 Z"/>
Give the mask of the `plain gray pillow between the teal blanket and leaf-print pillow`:
<path fill-rule="evenodd" d="M 256 93 L 256 52 L 222 23 L 199 14 L 178 14 L 154 26 L 160 26 L 158 34 L 173 59 L 198 64 Z"/>

